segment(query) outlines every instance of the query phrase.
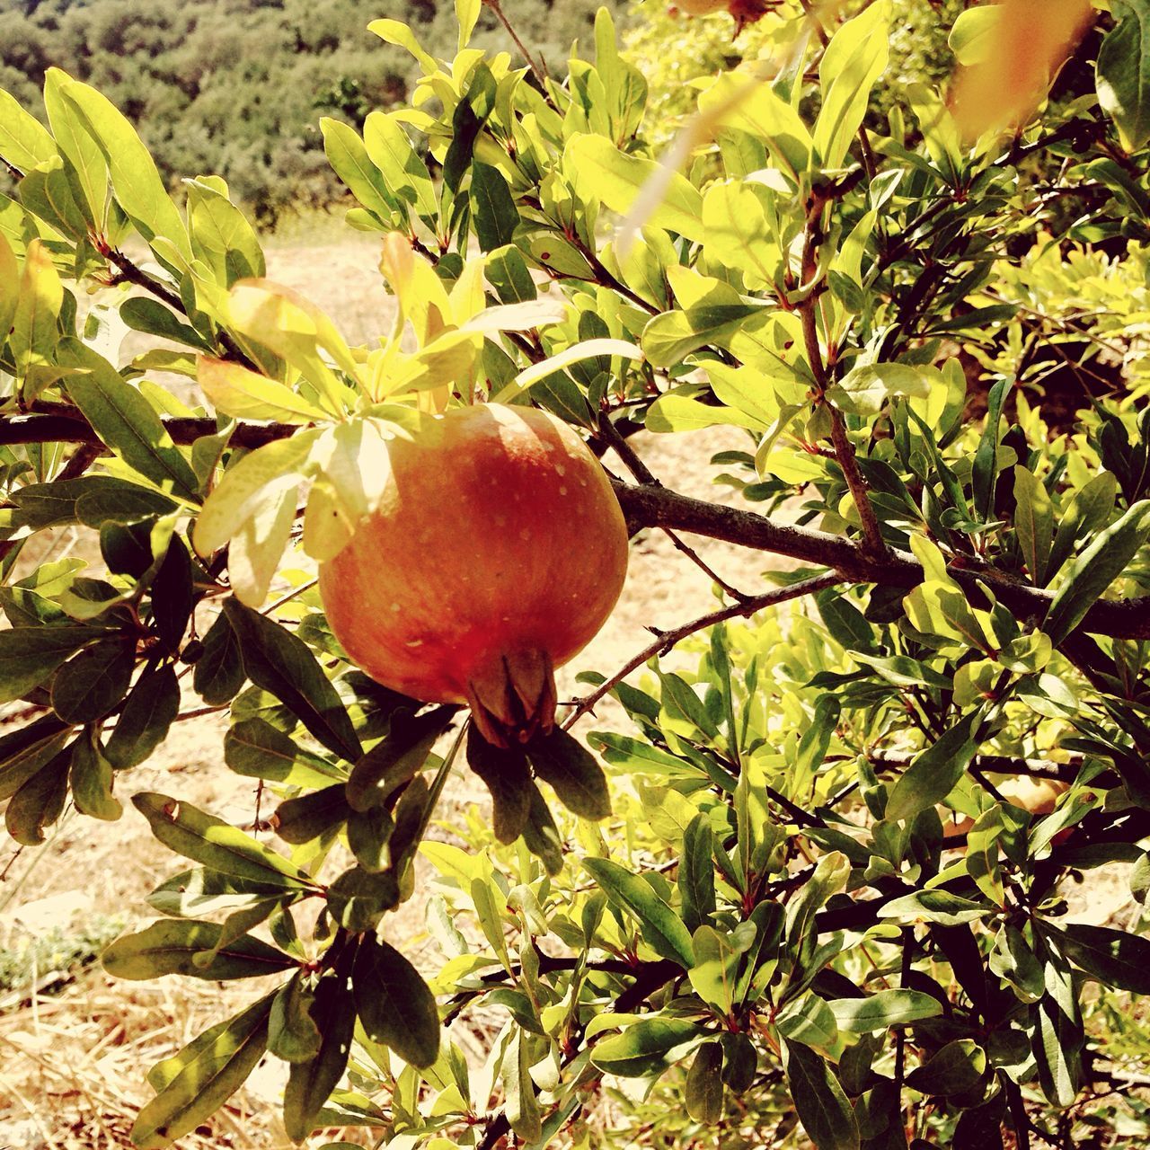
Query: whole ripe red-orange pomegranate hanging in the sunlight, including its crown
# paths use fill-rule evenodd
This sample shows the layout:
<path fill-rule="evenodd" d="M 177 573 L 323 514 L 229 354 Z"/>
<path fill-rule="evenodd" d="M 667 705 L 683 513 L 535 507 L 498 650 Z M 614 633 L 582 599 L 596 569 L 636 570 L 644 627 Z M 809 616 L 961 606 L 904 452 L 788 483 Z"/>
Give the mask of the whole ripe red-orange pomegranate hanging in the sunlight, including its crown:
<path fill-rule="evenodd" d="M 561 420 L 460 407 L 388 443 L 378 508 L 320 566 L 328 621 L 374 680 L 466 703 L 497 746 L 554 722 L 554 668 L 595 637 L 627 573 L 603 468 Z"/>

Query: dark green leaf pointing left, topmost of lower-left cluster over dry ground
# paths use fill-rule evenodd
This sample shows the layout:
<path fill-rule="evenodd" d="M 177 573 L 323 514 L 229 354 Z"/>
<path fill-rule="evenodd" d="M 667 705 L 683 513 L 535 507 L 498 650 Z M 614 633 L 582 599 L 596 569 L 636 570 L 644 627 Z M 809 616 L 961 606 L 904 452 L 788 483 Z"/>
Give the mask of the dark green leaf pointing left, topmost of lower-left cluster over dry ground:
<path fill-rule="evenodd" d="M 193 862 L 252 882 L 278 882 L 284 890 L 315 885 L 282 854 L 189 803 L 150 791 L 133 795 L 132 803 L 164 846 Z"/>

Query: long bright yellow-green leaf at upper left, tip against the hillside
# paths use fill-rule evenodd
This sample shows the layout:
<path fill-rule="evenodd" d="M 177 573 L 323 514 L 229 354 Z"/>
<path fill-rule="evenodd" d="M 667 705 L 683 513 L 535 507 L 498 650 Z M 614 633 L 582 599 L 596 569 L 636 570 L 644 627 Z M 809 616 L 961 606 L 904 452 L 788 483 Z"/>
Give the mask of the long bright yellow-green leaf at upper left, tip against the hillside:
<path fill-rule="evenodd" d="M 70 80 L 60 85 L 60 95 L 77 113 L 85 130 L 99 145 L 108 163 L 116 202 L 150 243 L 169 240 L 185 259 L 191 259 L 187 231 L 175 204 L 164 191 L 155 161 L 136 129 L 107 97 L 87 84 Z"/>

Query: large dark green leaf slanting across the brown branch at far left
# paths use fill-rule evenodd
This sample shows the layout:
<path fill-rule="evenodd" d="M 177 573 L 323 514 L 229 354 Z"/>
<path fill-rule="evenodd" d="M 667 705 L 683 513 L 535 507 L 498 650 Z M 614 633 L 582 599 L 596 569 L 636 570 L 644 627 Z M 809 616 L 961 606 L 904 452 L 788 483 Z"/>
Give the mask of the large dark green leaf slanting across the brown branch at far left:
<path fill-rule="evenodd" d="M 195 473 L 136 388 L 78 339 L 61 340 L 56 362 L 69 369 L 68 394 L 103 443 L 164 491 L 195 498 Z"/>

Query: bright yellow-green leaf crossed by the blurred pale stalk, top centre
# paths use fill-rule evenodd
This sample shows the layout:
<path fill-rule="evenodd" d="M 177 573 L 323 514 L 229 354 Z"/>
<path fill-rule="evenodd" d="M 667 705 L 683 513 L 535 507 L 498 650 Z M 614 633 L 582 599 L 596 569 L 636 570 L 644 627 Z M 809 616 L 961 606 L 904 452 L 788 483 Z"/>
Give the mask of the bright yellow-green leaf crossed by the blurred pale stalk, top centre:
<path fill-rule="evenodd" d="M 627 155 L 603 136 L 575 136 L 564 152 L 564 171 L 580 199 L 599 200 L 621 215 L 635 206 L 649 181 L 666 179 L 644 225 L 665 228 L 696 243 L 706 238 L 703 197 L 677 172 L 666 175 L 656 160 Z"/>

